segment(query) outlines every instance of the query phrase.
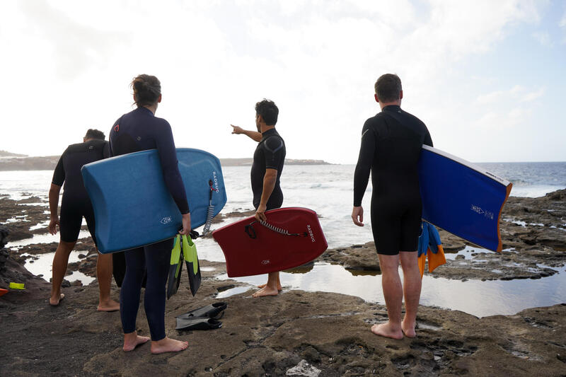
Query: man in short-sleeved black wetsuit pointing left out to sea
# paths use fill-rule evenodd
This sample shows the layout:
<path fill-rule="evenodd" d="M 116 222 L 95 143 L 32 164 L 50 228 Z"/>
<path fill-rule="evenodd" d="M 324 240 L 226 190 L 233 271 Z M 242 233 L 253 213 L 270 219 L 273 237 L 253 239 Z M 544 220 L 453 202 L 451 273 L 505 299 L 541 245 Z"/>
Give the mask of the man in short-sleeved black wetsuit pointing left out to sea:
<path fill-rule="evenodd" d="M 255 104 L 255 126 L 258 131 L 248 131 L 234 126 L 233 134 L 245 134 L 255 141 L 258 146 L 253 153 L 251 182 L 253 192 L 253 207 L 255 219 L 266 221 L 265 211 L 279 208 L 283 204 L 283 192 L 279 178 L 285 162 L 285 142 L 275 130 L 279 109 L 274 102 L 262 100 Z M 270 272 L 267 284 L 260 286 L 254 297 L 277 296 L 282 286 L 279 281 L 279 272 Z"/>

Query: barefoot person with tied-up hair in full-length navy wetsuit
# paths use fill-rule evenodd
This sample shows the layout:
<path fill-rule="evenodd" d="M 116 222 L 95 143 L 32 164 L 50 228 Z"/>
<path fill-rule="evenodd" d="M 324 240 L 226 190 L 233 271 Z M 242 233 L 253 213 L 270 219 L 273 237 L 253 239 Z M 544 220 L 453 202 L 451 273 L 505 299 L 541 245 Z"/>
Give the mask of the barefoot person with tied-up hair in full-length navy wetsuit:
<path fill-rule="evenodd" d="M 110 156 L 157 149 L 166 187 L 183 214 L 183 229 L 179 233 L 187 235 L 190 233 L 190 211 L 179 173 L 171 125 L 155 116 L 158 103 L 161 102 L 161 83 L 156 76 L 141 74 L 132 81 L 131 86 L 137 109 L 122 115 L 112 125 Z M 140 187 L 140 190 L 143 188 Z M 126 272 L 120 289 L 120 318 L 125 352 L 150 340 L 149 337 L 137 335 L 136 331 L 139 296 L 146 269 L 144 308 L 151 335 L 151 353 L 179 352 L 188 347 L 188 342 L 173 340 L 166 337 L 165 333 L 166 282 L 173 239 L 123 252 Z"/>

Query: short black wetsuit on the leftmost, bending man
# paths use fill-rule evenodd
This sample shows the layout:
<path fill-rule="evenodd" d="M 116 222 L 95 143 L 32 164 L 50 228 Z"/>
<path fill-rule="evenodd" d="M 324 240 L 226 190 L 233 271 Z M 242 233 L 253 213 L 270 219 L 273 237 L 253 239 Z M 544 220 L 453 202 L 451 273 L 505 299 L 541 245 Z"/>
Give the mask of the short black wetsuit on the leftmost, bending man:
<path fill-rule="evenodd" d="M 84 216 L 88 231 L 96 244 L 94 212 L 91 199 L 88 197 L 83 184 L 81 168 L 87 163 L 107 157 L 108 141 L 93 139 L 85 143 L 69 145 L 59 158 L 53 172 L 52 183 L 63 186 L 63 199 L 59 217 L 62 241 L 75 242 L 79 238 Z"/>

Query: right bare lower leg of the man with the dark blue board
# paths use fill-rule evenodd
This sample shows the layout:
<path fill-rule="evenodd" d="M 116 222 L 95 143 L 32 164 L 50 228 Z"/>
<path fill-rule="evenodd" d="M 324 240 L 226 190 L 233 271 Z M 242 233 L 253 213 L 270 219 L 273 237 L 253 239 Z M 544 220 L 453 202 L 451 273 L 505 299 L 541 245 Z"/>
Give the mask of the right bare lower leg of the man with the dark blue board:
<path fill-rule="evenodd" d="M 419 307 L 422 281 L 416 252 L 400 252 L 401 268 L 403 269 L 403 294 L 405 296 L 405 318 L 401 328 L 408 337 L 416 337 L 417 308 Z"/>

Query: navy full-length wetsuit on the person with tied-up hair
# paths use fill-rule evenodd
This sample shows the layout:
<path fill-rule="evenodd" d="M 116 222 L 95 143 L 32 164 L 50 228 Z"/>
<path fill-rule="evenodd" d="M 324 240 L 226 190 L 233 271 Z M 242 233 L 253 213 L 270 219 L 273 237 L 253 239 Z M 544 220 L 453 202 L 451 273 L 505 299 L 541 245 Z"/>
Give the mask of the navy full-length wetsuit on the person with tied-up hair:
<path fill-rule="evenodd" d="M 163 179 L 182 214 L 189 212 L 185 186 L 179 173 L 173 133 L 169 123 L 147 108 L 122 115 L 110 130 L 110 155 L 157 149 Z M 139 190 L 144 190 L 139 187 Z M 132 219 L 136 221 L 136 219 Z M 125 334 L 136 330 L 141 284 L 147 276 L 144 308 L 151 340 L 165 337 L 166 282 L 173 238 L 142 248 L 126 250 L 126 272 L 120 289 L 120 317 Z M 147 274 L 146 274 L 147 273 Z"/>

